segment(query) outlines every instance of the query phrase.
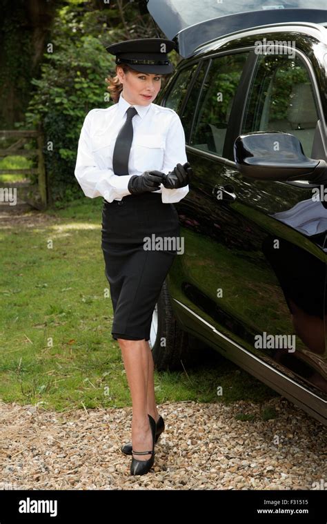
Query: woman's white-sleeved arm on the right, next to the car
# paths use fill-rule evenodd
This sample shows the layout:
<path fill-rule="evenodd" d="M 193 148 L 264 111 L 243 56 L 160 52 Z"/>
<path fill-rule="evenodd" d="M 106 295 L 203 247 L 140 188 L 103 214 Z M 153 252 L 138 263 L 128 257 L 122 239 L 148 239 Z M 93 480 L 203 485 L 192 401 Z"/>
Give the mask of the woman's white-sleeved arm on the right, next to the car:
<path fill-rule="evenodd" d="M 185 133 L 183 126 L 181 125 L 181 120 L 177 113 L 175 113 L 172 117 L 172 122 L 170 123 L 166 137 L 164 164 L 161 171 L 165 173 L 165 175 L 168 175 L 177 164 L 183 165 L 186 162 L 188 162 L 188 159 L 185 151 Z M 187 185 L 177 189 L 168 189 L 161 184 L 161 191 L 162 202 L 164 202 L 164 204 L 169 204 L 170 202 L 179 202 L 179 200 L 188 194 L 190 188 Z"/>

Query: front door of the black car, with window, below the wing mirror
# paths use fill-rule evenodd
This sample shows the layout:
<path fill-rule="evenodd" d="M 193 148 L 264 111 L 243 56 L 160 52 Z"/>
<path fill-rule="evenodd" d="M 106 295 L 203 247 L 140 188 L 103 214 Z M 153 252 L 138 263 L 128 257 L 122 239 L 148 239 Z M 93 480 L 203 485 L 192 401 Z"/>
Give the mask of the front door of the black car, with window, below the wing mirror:
<path fill-rule="evenodd" d="M 259 54 L 241 133 L 290 133 L 300 140 L 307 157 L 318 154 L 322 159 L 326 151 L 317 143 L 326 143 L 324 129 L 315 75 L 307 57 L 286 46 L 273 55 Z M 255 293 L 251 311 L 244 314 L 241 308 L 235 309 L 237 318 L 242 316 L 244 320 L 245 338 L 250 340 L 248 327 L 256 312 L 255 339 L 259 345 L 255 347 L 261 350 L 261 358 L 277 368 L 281 365 L 290 376 L 301 378 L 306 387 L 310 385 L 319 394 L 324 392 L 327 398 L 326 206 L 313 199 L 315 184 L 308 179 L 251 179 L 248 197 L 244 184 L 249 180 L 235 174 L 233 182 L 239 204 L 248 208 L 241 214 L 259 240 L 257 254 L 265 273 L 261 273 L 262 278 L 257 275 L 252 284 L 248 280 Z M 255 220 L 249 220 L 249 208 Z M 263 296 L 263 309 L 258 311 L 256 297 Z M 246 300 L 246 292 L 242 298 Z"/>

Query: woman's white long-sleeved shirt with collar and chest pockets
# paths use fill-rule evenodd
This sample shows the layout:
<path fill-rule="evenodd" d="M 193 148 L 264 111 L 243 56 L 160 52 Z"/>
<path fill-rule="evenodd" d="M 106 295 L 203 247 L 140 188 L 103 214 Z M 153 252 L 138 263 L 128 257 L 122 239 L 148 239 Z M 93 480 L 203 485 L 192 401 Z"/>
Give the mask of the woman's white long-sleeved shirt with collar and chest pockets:
<path fill-rule="evenodd" d="M 121 93 L 117 104 L 106 109 L 92 109 L 86 115 L 79 137 L 75 177 L 87 197 L 102 196 L 107 202 L 121 200 L 131 194 L 128 182 L 133 175 L 154 169 L 167 175 L 177 164 L 188 161 L 184 129 L 177 113 L 157 104 L 134 105 L 137 115 L 132 119 L 129 174 L 115 175 L 113 150 L 129 107 Z M 168 189 L 160 184 L 152 193 L 161 193 L 161 201 L 167 204 L 179 202 L 188 191 L 188 186 Z"/>

